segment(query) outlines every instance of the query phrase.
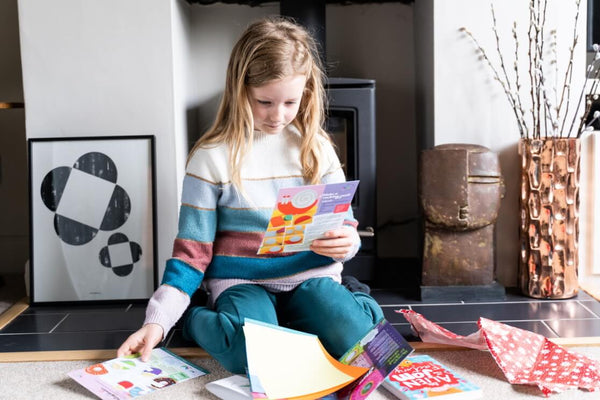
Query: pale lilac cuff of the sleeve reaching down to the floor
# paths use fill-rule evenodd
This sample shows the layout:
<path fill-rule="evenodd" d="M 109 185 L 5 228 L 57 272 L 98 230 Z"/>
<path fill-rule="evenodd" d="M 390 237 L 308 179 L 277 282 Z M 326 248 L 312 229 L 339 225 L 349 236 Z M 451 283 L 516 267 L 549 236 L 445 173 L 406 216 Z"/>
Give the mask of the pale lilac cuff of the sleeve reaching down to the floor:
<path fill-rule="evenodd" d="M 173 286 L 160 285 L 148 301 L 144 325 L 160 325 L 164 339 L 189 305 L 190 298 L 187 294 Z"/>

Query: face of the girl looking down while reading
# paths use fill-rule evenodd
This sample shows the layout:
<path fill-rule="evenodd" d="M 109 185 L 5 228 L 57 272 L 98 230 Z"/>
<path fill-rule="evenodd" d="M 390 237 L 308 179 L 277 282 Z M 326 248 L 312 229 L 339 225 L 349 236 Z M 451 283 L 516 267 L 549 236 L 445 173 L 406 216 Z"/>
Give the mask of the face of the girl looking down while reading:
<path fill-rule="evenodd" d="M 250 87 L 254 129 L 276 134 L 296 118 L 306 76 L 291 75 L 262 86 Z"/>

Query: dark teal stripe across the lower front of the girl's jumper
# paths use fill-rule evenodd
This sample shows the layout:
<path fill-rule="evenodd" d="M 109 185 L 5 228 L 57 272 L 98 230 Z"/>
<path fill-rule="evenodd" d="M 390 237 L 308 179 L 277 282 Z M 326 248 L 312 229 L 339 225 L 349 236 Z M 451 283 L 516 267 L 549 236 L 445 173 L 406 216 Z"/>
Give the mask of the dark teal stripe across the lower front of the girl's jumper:
<path fill-rule="evenodd" d="M 290 256 L 273 258 L 215 255 L 206 270 L 206 277 L 220 279 L 282 278 L 333 262 L 333 259 L 320 256 L 312 251 L 302 251 Z"/>

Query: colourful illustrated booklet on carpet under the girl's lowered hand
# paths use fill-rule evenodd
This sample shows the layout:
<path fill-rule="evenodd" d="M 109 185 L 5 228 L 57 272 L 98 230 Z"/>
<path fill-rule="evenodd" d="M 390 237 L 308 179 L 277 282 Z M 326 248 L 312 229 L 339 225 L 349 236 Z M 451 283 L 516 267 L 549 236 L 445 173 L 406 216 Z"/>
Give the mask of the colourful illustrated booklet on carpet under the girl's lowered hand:
<path fill-rule="evenodd" d="M 99 398 L 115 400 L 138 397 L 207 373 L 165 348 L 156 348 L 148 362 L 142 362 L 140 354 L 133 354 L 68 375 Z"/>

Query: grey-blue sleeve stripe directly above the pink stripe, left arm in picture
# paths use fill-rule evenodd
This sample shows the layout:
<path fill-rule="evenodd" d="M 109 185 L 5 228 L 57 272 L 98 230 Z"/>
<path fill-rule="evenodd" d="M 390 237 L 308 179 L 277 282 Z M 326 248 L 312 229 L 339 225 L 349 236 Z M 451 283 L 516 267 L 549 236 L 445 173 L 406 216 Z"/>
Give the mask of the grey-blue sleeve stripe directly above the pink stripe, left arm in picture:
<path fill-rule="evenodd" d="M 217 230 L 217 212 L 215 210 L 198 210 L 181 206 L 179 210 L 180 239 L 191 239 L 198 242 L 213 242 Z"/>

